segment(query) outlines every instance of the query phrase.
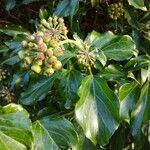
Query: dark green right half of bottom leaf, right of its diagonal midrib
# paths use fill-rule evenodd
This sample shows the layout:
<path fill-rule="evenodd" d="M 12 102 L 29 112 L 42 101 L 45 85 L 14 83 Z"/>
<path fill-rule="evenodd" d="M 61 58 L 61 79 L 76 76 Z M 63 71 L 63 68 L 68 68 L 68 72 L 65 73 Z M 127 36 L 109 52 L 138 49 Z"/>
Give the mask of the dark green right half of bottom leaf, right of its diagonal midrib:
<path fill-rule="evenodd" d="M 70 121 L 64 118 L 47 116 L 40 119 L 40 123 L 48 130 L 60 149 L 62 147 L 76 148 L 78 135 Z"/>

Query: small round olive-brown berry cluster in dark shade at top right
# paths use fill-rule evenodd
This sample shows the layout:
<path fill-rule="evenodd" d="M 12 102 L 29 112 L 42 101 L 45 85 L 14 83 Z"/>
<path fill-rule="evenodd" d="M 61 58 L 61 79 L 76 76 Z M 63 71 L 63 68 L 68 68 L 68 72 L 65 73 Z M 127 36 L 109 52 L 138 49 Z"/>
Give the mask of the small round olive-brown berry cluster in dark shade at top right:
<path fill-rule="evenodd" d="M 111 4 L 108 8 L 108 15 L 111 19 L 117 20 L 123 16 L 124 9 L 121 2 Z"/>

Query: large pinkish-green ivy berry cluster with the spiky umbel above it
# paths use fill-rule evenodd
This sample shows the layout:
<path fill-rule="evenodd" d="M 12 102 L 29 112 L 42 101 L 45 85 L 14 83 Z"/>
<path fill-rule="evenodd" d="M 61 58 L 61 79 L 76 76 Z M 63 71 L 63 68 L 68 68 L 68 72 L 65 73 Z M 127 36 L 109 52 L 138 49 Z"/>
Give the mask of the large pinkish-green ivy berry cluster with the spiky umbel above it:
<path fill-rule="evenodd" d="M 58 58 L 63 55 L 63 48 L 58 43 L 66 38 L 67 28 L 62 18 L 41 20 L 39 30 L 22 41 L 24 50 L 19 51 L 18 55 L 23 60 L 23 66 L 35 73 L 52 75 L 62 67 Z"/>

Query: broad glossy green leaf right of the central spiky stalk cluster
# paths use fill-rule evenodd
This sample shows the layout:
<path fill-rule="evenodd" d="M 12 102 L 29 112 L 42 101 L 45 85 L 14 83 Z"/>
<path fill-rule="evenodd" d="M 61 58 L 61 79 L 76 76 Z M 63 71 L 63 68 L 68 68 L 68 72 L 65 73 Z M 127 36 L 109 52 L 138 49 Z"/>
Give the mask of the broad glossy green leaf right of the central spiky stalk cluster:
<path fill-rule="evenodd" d="M 107 58 L 122 61 L 137 55 L 135 44 L 128 35 L 114 35 L 112 32 L 99 34 L 94 46 L 102 50 Z"/>

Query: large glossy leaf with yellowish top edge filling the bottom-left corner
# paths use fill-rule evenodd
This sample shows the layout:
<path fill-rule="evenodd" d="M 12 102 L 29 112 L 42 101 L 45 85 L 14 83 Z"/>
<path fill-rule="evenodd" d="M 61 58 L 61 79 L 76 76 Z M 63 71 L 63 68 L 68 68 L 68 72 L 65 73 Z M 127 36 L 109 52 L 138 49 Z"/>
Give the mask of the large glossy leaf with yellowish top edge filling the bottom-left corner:
<path fill-rule="evenodd" d="M 31 146 L 29 114 L 16 104 L 0 108 L 0 149 L 26 150 Z"/>

